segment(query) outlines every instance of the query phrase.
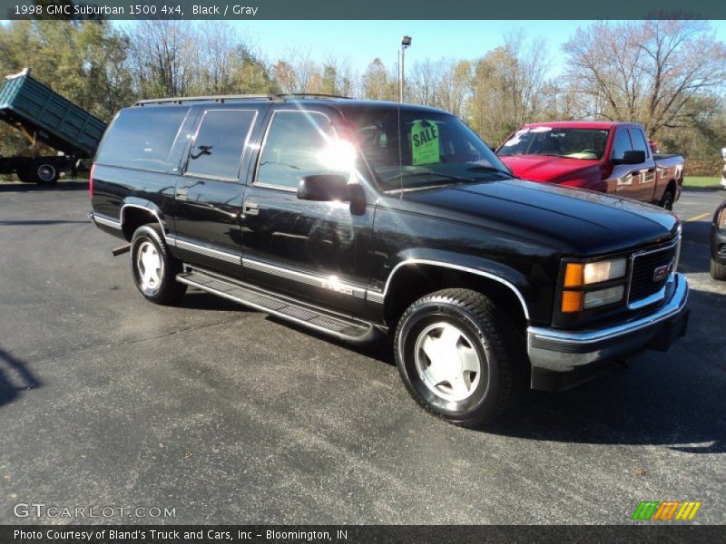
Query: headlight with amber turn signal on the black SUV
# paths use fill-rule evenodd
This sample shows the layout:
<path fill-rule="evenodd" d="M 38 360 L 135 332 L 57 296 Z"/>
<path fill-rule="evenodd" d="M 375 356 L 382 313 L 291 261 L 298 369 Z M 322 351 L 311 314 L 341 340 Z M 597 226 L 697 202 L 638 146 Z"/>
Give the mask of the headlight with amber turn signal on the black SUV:
<path fill-rule="evenodd" d="M 567 263 L 560 309 L 564 314 L 607 306 L 623 300 L 628 261 L 624 257 L 594 263 Z M 623 278 L 623 283 L 602 289 L 586 288 Z"/>

